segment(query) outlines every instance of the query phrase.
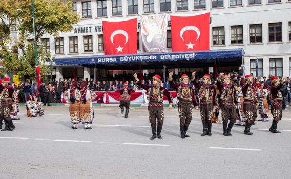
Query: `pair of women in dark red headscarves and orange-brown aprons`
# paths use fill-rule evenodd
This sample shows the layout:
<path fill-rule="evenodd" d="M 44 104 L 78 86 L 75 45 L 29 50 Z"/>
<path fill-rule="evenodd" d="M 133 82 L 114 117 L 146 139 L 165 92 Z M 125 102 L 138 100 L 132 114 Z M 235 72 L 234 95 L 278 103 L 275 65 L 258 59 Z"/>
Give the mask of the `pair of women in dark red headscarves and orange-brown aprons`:
<path fill-rule="evenodd" d="M 91 90 L 87 89 L 87 82 L 80 83 L 80 90 L 78 89 L 78 82 L 73 81 L 70 89 L 65 91 L 64 98 L 67 103 L 70 103 L 69 111 L 71 117 L 72 129 L 77 129 L 77 124 L 81 122 L 84 129 L 92 129 L 94 119 L 94 110 L 92 100 L 97 98 L 97 95 Z"/>

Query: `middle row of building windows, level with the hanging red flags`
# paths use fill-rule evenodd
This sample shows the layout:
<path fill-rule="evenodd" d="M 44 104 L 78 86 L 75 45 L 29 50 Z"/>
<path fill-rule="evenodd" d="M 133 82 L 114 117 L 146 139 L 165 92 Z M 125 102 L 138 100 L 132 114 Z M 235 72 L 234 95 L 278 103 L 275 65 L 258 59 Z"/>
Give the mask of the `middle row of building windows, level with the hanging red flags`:
<path fill-rule="evenodd" d="M 249 43 L 263 43 L 262 24 L 249 26 Z M 288 22 L 288 41 L 291 42 L 291 22 Z M 243 44 L 243 26 L 231 26 L 231 45 Z M 103 35 L 97 35 L 98 52 L 104 51 Z M 41 39 L 46 52 L 50 51 L 49 38 Z M 268 42 L 282 42 L 282 23 L 268 24 Z M 83 52 L 93 52 L 93 36 L 83 36 Z M 224 27 L 212 28 L 212 45 L 225 45 Z M 171 30 L 167 31 L 167 48 L 172 48 Z M 139 50 L 139 32 L 137 32 L 137 50 Z M 79 53 L 78 36 L 69 37 L 69 53 Z M 55 38 L 55 54 L 64 54 L 64 37 Z"/>

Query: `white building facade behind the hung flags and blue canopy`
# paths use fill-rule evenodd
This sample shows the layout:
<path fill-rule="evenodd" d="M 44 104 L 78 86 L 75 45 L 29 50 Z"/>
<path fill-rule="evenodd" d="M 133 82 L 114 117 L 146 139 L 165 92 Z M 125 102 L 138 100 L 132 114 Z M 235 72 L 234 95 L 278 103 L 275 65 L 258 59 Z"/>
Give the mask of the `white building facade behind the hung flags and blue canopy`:
<path fill-rule="evenodd" d="M 291 0 L 84 0 L 73 1 L 72 8 L 82 18 L 73 25 L 71 32 L 60 33 L 59 37 L 45 35 L 41 38 L 42 42 L 46 42 L 44 48 L 51 52 L 52 58 L 103 55 L 102 19 L 133 16 L 138 19 L 137 53 L 142 53 L 139 19 L 141 16 L 161 14 L 169 14 L 167 50 L 170 52 L 170 14 L 210 11 L 211 50 L 243 48 L 242 65 L 246 74 L 291 76 Z M 82 66 L 54 68 L 57 79 L 72 77 L 74 68 L 77 69 L 77 76 L 84 78 L 92 78 L 96 72 L 100 75 L 107 73 Z M 224 67 L 219 70 L 224 70 Z"/>

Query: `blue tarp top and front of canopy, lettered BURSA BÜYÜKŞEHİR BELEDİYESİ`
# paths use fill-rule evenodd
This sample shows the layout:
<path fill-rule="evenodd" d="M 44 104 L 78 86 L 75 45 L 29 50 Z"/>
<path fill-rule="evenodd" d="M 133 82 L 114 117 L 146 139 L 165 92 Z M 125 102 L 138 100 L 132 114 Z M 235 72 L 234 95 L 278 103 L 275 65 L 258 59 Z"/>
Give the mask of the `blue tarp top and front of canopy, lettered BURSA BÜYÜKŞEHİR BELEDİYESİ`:
<path fill-rule="evenodd" d="M 71 58 L 56 58 L 56 65 L 120 64 L 132 62 L 194 61 L 205 59 L 237 58 L 244 55 L 243 49 L 138 53 L 127 55 L 96 55 Z"/>

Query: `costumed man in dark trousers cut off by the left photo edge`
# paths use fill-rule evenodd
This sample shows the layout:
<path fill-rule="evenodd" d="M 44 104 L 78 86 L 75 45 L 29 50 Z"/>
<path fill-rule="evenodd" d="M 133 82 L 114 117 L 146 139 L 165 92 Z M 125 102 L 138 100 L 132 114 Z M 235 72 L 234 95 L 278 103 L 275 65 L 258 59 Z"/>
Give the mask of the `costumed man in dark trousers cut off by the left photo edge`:
<path fill-rule="evenodd" d="M 10 112 L 12 111 L 13 93 L 14 89 L 12 85 L 10 85 L 10 78 L 5 77 L 2 79 L 2 85 L 0 86 L 0 115 L 1 119 L 3 119 L 5 123 L 5 128 L 1 131 L 13 131 L 15 129 L 10 117 Z M 0 124 L 2 124 L 2 120 L 0 121 Z"/>

